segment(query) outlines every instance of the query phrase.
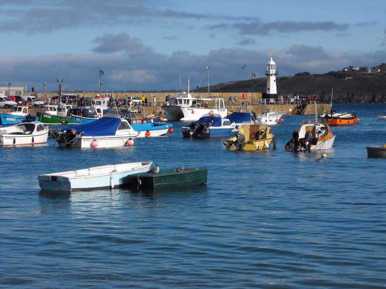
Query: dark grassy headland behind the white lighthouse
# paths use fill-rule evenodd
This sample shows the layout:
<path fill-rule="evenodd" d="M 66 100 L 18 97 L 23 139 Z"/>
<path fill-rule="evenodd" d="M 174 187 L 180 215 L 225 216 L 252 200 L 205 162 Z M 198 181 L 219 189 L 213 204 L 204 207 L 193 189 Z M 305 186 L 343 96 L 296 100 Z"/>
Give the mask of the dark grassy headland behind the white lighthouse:
<path fill-rule="evenodd" d="M 334 103 L 371 103 L 386 102 L 386 64 L 378 66 L 381 73 L 359 71 L 330 71 L 326 74 L 298 73 L 295 76 L 276 76 L 278 95 L 314 95 L 319 102 Z M 252 80 L 232 81 L 210 86 L 210 91 L 248 92 Z M 253 79 L 253 92 L 266 92 L 266 78 Z M 200 87 L 195 92 L 207 92 L 207 87 Z"/>

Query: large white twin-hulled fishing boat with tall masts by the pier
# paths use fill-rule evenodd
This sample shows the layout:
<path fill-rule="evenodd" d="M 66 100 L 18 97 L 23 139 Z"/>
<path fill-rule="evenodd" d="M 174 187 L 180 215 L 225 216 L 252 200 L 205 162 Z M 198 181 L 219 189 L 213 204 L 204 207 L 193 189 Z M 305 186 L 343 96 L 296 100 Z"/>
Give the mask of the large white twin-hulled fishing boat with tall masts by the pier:
<path fill-rule="evenodd" d="M 210 97 L 209 91 L 209 68 L 208 74 L 208 97 L 193 98 L 189 93 L 189 79 L 187 92 L 180 92 L 177 97 L 171 97 L 168 102 L 162 107 L 169 121 L 197 121 L 204 114 L 211 111 L 220 114 L 222 118 L 227 116 L 228 108 L 225 107 L 222 97 Z"/>

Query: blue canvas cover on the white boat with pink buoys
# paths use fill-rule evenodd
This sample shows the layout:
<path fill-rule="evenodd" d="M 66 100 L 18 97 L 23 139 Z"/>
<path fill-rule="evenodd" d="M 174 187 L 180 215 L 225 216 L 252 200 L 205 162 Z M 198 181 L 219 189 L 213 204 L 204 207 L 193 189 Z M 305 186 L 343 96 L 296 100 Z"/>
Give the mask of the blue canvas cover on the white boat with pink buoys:
<path fill-rule="evenodd" d="M 83 132 L 83 136 L 113 136 L 120 123 L 120 118 L 103 117 L 91 123 L 81 124 L 68 129 L 76 129 L 78 133 Z"/>

